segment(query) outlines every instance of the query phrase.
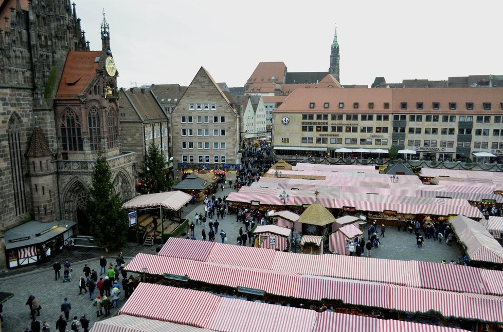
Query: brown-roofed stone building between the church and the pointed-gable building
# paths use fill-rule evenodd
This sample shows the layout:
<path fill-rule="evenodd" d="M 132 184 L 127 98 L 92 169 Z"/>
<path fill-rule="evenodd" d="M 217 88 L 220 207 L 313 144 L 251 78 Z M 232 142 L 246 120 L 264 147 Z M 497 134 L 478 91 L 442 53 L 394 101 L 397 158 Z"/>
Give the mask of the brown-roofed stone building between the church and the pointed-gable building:
<path fill-rule="evenodd" d="M 134 183 L 137 183 L 138 171 L 151 143 L 157 146 L 166 162 L 170 162 L 168 114 L 151 89 L 121 88 L 119 98 L 120 127 L 127 133 L 122 136 L 122 148 L 135 152 Z"/>

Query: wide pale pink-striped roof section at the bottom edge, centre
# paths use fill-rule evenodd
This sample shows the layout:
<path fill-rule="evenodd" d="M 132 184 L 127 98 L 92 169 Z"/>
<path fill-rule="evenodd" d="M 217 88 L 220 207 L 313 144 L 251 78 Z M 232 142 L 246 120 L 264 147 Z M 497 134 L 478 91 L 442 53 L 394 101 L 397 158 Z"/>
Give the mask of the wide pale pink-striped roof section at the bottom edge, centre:
<path fill-rule="evenodd" d="M 226 332 L 310 332 L 316 317 L 314 310 L 223 299 L 208 327 Z"/>

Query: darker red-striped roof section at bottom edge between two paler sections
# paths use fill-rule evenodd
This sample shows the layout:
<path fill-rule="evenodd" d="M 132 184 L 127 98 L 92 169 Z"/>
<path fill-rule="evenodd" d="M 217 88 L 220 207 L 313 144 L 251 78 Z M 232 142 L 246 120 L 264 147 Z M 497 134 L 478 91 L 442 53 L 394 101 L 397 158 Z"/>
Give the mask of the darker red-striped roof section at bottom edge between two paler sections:
<path fill-rule="evenodd" d="M 332 313 L 318 314 L 313 332 L 384 332 L 379 329 L 379 319 L 365 316 Z M 407 330 L 402 330 L 407 331 Z"/>

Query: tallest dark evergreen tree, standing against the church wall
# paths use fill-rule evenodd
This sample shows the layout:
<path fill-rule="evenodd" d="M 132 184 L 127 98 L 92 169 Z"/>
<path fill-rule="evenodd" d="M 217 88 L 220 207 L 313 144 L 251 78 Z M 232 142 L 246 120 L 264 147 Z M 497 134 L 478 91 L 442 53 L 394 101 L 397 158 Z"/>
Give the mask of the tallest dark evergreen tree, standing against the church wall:
<path fill-rule="evenodd" d="M 112 172 L 103 154 L 93 169 L 93 187 L 87 201 L 87 216 L 95 243 L 106 249 L 118 249 L 126 241 L 128 214 L 119 193 L 114 193 Z"/>

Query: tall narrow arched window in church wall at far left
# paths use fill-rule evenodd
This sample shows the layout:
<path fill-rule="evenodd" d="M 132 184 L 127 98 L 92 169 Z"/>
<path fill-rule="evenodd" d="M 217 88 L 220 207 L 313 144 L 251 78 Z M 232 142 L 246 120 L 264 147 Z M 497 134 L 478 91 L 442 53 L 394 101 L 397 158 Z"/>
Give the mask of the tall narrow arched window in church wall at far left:
<path fill-rule="evenodd" d="M 16 215 L 26 213 L 26 195 L 24 189 L 23 164 L 21 151 L 21 126 L 14 116 L 9 120 L 7 129 L 9 137 L 10 169 Z"/>

